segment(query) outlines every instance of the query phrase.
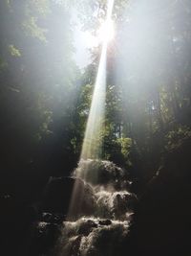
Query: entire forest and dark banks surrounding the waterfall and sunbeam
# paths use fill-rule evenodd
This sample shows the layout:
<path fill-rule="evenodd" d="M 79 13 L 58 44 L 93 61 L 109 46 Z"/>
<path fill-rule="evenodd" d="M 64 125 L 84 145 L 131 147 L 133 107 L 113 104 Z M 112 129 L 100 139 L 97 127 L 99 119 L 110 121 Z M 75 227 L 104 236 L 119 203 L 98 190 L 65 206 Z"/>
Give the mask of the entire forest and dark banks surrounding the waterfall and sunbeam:
<path fill-rule="evenodd" d="M 76 23 L 96 35 L 106 13 L 105 0 L 0 1 L 2 255 L 67 256 L 43 251 L 54 229 L 32 251 L 33 222 L 50 180 L 78 166 L 90 114 L 101 44 L 77 65 Z M 189 256 L 191 3 L 116 0 L 112 18 L 100 159 L 127 170 L 138 198 L 118 255 Z"/>

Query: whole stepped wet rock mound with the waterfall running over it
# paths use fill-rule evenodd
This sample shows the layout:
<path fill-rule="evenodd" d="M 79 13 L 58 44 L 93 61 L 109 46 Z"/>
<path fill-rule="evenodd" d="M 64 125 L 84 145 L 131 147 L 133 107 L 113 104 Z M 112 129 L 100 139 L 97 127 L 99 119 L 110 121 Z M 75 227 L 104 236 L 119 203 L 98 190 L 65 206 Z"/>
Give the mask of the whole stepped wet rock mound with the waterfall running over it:
<path fill-rule="evenodd" d="M 114 248 L 129 229 L 127 201 L 131 196 L 126 189 L 127 173 L 109 161 L 86 162 L 91 165 L 79 165 L 81 176 L 75 173 L 76 178 L 52 178 L 47 185 L 37 255 L 117 255 Z M 57 229 L 61 230 L 60 235 Z"/>

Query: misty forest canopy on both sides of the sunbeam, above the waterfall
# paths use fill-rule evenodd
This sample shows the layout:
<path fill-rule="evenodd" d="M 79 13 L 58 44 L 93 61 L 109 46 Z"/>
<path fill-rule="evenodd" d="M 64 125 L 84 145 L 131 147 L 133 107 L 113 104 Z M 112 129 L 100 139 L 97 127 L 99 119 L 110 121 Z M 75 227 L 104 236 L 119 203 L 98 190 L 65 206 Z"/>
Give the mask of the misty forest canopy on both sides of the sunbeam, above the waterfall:
<path fill-rule="evenodd" d="M 103 0 L 1 1 L 3 187 L 12 191 L 19 174 L 35 179 L 33 169 L 44 182 L 76 165 L 101 42 L 81 68 L 74 56 L 86 46 L 76 49 L 74 31 L 96 40 L 106 10 Z M 101 158 L 134 171 L 142 161 L 145 178 L 191 135 L 190 12 L 187 0 L 115 1 Z"/>

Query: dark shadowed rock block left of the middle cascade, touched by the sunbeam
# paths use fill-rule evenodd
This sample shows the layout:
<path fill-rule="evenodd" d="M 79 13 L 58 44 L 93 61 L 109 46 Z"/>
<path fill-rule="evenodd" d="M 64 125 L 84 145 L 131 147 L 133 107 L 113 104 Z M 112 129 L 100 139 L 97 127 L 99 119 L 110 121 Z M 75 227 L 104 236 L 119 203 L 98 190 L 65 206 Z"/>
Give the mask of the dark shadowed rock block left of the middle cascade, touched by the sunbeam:
<path fill-rule="evenodd" d="M 77 197 L 69 213 L 69 207 L 73 198 Z M 68 214 L 77 216 L 80 214 L 91 214 L 94 211 L 93 192 L 89 185 L 85 185 L 80 178 L 59 177 L 52 178 L 45 190 L 42 200 L 43 212 L 61 214 L 65 217 Z M 51 218 L 51 216 L 47 216 Z"/>

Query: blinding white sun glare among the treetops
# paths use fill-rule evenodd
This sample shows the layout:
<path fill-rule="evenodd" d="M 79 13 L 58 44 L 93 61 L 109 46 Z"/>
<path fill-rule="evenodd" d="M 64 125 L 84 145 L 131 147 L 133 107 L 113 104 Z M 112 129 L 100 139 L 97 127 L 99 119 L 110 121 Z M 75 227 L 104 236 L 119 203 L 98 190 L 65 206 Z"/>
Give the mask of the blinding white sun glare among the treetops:
<path fill-rule="evenodd" d="M 115 36 L 114 21 L 107 19 L 97 30 L 96 35 L 92 35 L 90 32 L 85 32 L 84 35 L 88 48 L 96 47 L 100 43 L 109 43 Z"/>

